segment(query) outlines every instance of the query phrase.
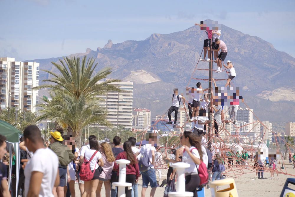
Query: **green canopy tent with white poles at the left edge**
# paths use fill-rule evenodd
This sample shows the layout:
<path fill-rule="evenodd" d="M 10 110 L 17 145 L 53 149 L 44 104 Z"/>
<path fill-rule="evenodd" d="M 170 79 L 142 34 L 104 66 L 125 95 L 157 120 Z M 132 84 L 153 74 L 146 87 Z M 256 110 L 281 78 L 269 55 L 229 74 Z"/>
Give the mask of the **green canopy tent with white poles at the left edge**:
<path fill-rule="evenodd" d="M 16 129 L 11 124 L 1 121 L 0 120 L 0 134 L 6 137 L 7 147 L 9 149 L 9 180 L 8 180 L 8 188 L 11 185 L 11 171 L 12 171 L 12 146 L 14 147 L 14 154 L 15 154 L 15 169 L 16 172 L 19 172 L 20 161 L 19 161 L 19 138 L 22 135 L 22 132 Z M 18 180 L 19 180 L 19 173 L 16 173 L 16 188 L 18 188 Z M 13 194 L 17 197 L 17 192 Z"/>

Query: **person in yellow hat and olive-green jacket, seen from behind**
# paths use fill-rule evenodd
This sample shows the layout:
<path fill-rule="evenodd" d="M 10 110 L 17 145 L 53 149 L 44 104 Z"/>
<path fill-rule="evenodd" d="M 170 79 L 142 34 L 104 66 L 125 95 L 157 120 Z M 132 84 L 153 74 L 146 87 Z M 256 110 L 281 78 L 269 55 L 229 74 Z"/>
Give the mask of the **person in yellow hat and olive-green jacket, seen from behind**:
<path fill-rule="evenodd" d="M 65 145 L 62 144 L 63 137 L 61 136 L 60 132 L 50 132 L 50 135 L 50 145 L 48 148 L 50 148 L 58 156 L 58 170 L 60 176 L 60 184 L 58 185 L 57 189 L 53 188 L 53 191 L 57 192 L 58 197 L 64 197 L 64 186 L 66 185 L 68 164 L 76 160 L 76 157 L 67 149 Z"/>

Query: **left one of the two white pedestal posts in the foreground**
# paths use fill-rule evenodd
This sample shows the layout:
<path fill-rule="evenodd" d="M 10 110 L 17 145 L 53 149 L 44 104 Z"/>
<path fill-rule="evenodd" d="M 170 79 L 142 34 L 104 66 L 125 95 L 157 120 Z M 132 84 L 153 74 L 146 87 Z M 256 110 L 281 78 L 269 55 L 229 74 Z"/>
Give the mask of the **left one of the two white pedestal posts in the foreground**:
<path fill-rule="evenodd" d="M 118 187 L 118 197 L 125 197 L 125 187 L 129 187 L 128 189 L 132 189 L 132 183 L 126 183 L 126 165 L 130 164 L 129 160 L 119 159 L 115 161 L 119 164 L 119 182 L 112 183 L 112 189 L 116 189 Z"/>

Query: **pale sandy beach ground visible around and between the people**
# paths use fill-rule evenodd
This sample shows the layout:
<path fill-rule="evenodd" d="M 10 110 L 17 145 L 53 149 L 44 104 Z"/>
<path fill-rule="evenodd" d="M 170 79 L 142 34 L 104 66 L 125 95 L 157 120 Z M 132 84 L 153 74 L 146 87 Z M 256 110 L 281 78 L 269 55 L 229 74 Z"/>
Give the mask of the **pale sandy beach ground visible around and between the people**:
<path fill-rule="evenodd" d="M 295 169 L 293 170 L 293 166 L 289 165 L 289 161 L 284 161 L 285 169 L 283 169 L 283 172 L 287 172 L 289 174 L 295 174 Z M 278 177 L 276 173 L 274 174 L 274 179 L 270 178 L 270 173 L 266 172 L 264 173 L 264 178 L 267 179 L 258 179 L 255 177 L 255 172 L 251 170 L 244 169 L 243 170 L 245 174 L 239 176 L 238 178 L 235 178 L 235 184 L 237 187 L 237 191 L 239 194 L 239 197 L 248 197 L 248 196 L 261 196 L 261 197 L 268 197 L 268 196 L 279 196 L 281 194 L 281 191 L 283 189 L 283 185 L 285 184 L 285 181 L 287 178 L 292 178 L 292 176 L 289 175 L 283 175 L 278 174 Z M 162 180 L 165 178 L 165 171 L 163 170 L 162 173 Z M 158 175 L 157 175 L 158 176 Z M 294 177 L 295 178 L 295 177 Z M 138 196 L 141 196 L 141 188 L 142 188 L 142 180 L 139 180 L 138 185 Z M 164 187 L 158 187 L 155 197 L 162 197 L 164 193 Z M 76 196 L 80 196 L 80 191 L 78 188 L 78 184 L 75 184 L 75 190 L 76 190 Z M 147 189 L 146 196 L 148 196 L 150 193 L 150 187 Z M 105 196 L 104 186 L 102 188 L 101 196 Z M 210 197 L 211 191 L 210 189 L 205 189 L 205 196 Z"/>

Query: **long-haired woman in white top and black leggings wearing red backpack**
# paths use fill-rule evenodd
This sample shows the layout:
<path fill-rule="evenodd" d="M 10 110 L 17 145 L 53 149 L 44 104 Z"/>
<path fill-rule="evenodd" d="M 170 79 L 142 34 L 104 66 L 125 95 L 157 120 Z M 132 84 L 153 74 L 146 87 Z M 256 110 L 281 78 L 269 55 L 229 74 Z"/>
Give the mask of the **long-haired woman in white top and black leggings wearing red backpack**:
<path fill-rule="evenodd" d="M 197 187 L 200 185 L 200 177 L 198 175 L 198 166 L 201 164 L 203 152 L 201 148 L 201 138 L 196 134 L 184 131 L 180 137 L 180 142 L 184 148 L 182 155 L 182 162 L 190 164 L 189 168 L 185 169 L 185 191 L 194 193 L 194 197 L 198 196 Z M 169 162 L 178 162 L 173 159 L 165 158 Z"/>

